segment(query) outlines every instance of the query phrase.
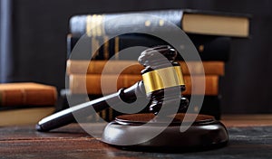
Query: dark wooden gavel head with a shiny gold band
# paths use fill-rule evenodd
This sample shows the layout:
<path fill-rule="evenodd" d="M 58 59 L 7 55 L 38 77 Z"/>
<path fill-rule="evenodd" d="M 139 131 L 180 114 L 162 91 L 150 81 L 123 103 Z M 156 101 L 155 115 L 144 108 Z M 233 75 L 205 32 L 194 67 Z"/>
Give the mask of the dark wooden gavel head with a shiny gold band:
<path fill-rule="evenodd" d="M 161 45 L 141 52 L 138 59 L 145 67 L 141 75 L 147 97 L 151 98 L 150 111 L 155 115 L 162 105 L 170 109 L 177 101 L 180 102 L 179 111 L 188 107 L 188 99 L 181 95 L 185 83 L 180 63 L 174 61 L 176 57 L 177 51 L 169 45 Z"/>

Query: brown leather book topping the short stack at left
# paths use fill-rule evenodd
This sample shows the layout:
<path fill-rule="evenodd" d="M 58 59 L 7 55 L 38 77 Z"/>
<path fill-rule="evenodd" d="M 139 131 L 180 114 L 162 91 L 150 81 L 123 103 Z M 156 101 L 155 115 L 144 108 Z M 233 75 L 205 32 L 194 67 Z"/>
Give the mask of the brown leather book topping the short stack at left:
<path fill-rule="evenodd" d="M 0 107 L 53 106 L 57 91 L 53 86 L 38 83 L 0 84 Z"/>

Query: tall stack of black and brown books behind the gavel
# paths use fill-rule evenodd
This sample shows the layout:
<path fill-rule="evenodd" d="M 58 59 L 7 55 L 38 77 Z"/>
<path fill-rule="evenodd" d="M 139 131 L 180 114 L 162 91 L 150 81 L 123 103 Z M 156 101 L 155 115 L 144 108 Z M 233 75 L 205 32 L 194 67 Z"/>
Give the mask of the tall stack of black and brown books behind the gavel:
<path fill-rule="evenodd" d="M 90 98 L 95 98 L 102 96 L 102 93 L 110 94 L 116 92 L 117 89 L 130 87 L 135 82 L 141 80 L 141 70 L 143 67 L 135 61 L 139 57 L 139 54 L 130 54 L 130 56 L 126 56 L 127 58 L 121 58 L 118 56 L 118 52 L 133 46 L 153 47 L 161 44 L 169 44 L 158 37 L 139 33 L 139 31 L 152 31 L 154 28 L 163 25 L 164 21 L 170 21 L 188 34 L 190 41 L 193 42 L 199 51 L 199 57 L 202 61 L 201 63 L 200 61 L 191 59 L 185 62 L 182 57 L 177 57 L 187 88 L 182 94 L 190 98 L 191 77 L 194 76 L 194 78 L 198 79 L 201 76 L 205 76 L 205 93 L 196 91 L 194 94 L 204 95 L 204 102 L 202 106 L 194 106 L 194 109 L 196 111 L 200 109 L 200 113 L 202 114 L 219 118 L 219 80 L 225 73 L 224 67 L 225 62 L 228 61 L 231 39 L 235 37 L 248 37 L 248 15 L 195 10 L 163 10 L 139 12 L 136 14 L 157 15 L 159 20 L 158 22 L 154 22 L 157 20 L 148 20 L 142 23 L 138 22 L 138 19 L 141 18 L 135 18 L 135 21 L 116 18 L 114 21 L 107 21 L 107 19 L 118 17 L 117 15 L 121 14 L 75 15 L 71 18 L 71 33 L 67 36 L 67 53 L 69 57 L 67 61 L 68 96 L 81 96 L 81 94 L 87 92 Z M 134 31 L 134 28 L 137 28 L 137 32 Z M 124 34 L 115 36 L 112 39 L 109 38 L 111 34 L 118 34 L 120 31 Z M 170 32 L 171 30 L 165 31 L 165 33 Z M 84 34 L 86 36 L 83 36 Z M 85 46 L 87 43 L 87 46 L 91 48 L 90 51 L 80 52 L 79 50 L 76 52 L 80 53 L 79 56 L 71 55 L 76 43 L 79 42 L 82 36 L 85 39 L 83 43 Z M 100 45 L 102 46 L 98 47 Z M 93 48 L 99 49 L 96 50 Z M 112 57 L 114 57 L 115 61 L 108 61 Z M 201 74 L 200 71 L 202 64 L 205 75 Z M 107 66 L 106 69 L 105 66 Z M 125 68 L 126 66 L 130 67 L 120 71 L 120 68 Z M 189 66 L 193 70 L 189 71 Z M 106 83 L 103 83 L 104 88 L 116 85 L 115 89 L 102 91 L 102 78 L 107 80 Z M 86 83 L 86 85 L 82 83 Z M 107 110 L 102 114 L 109 120 L 114 117 L 112 110 Z"/>

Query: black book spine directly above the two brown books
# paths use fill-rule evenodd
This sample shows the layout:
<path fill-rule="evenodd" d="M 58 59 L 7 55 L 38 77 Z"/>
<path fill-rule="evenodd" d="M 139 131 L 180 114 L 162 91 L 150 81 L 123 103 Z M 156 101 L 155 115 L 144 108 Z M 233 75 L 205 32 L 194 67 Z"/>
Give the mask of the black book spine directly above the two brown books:
<path fill-rule="evenodd" d="M 199 51 L 199 57 L 202 61 L 228 61 L 230 48 L 229 37 L 189 34 L 189 38 Z M 79 39 L 80 38 L 76 36 L 67 37 L 67 57 L 70 57 L 70 59 L 86 60 L 86 57 L 92 56 L 92 59 L 95 60 L 107 60 L 114 57 L 116 60 L 136 61 L 140 56 L 141 51 L 138 53 L 131 53 L 130 55 L 122 54 L 120 57 L 117 56 L 117 53 L 133 46 L 154 47 L 157 45 L 169 44 L 158 37 L 141 33 L 122 34 L 109 41 L 105 41 L 105 37 L 84 37 L 83 41 L 90 43 L 88 47 L 90 47 L 89 50 L 91 53 L 90 51 L 80 51 L 80 53 L 78 53 L 79 51 L 74 51 L 76 55 L 71 56 L 73 48 Z M 101 45 L 100 48 L 99 45 Z M 97 48 L 97 51 L 95 49 L 93 50 L 93 48 Z M 183 60 L 180 54 L 178 55 L 177 60 Z M 193 58 L 188 60 L 195 61 Z"/>

